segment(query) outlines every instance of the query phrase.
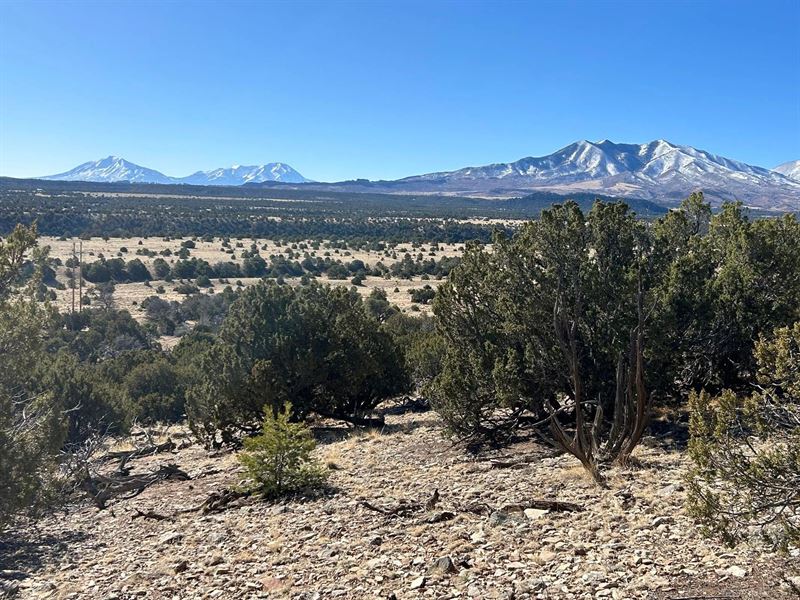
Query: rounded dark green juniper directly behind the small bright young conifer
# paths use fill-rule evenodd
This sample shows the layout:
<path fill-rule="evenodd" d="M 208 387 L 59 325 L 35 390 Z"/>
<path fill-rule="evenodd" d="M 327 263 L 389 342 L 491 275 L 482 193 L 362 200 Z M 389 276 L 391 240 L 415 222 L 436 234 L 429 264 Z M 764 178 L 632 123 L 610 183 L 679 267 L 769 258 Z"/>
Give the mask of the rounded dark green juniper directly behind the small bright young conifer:
<path fill-rule="evenodd" d="M 241 292 L 202 365 L 188 416 L 208 442 L 217 433 L 233 441 L 265 405 L 291 401 L 295 418 L 352 419 L 408 385 L 396 347 L 359 294 L 316 283 L 260 282 Z"/>

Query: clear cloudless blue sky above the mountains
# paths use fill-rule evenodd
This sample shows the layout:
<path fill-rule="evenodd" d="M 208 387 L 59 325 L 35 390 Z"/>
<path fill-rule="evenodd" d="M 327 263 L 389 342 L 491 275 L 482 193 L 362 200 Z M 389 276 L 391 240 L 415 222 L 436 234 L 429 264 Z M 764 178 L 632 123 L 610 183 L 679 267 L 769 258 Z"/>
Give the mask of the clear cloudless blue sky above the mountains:
<path fill-rule="evenodd" d="M 800 1 L 0 2 L 0 174 L 397 178 L 665 138 L 800 158 Z"/>

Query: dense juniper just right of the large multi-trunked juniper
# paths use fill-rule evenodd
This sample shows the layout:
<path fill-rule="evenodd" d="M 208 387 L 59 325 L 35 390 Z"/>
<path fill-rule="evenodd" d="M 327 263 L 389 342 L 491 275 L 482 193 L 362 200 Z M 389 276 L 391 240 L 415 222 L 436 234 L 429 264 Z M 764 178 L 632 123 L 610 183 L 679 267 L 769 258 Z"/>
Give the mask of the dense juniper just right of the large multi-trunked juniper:
<path fill-rule="evenodd" d="M 754 343 L 800 319 L 800 222 L 750 221 L 741 205 L 710 217 L 702 195 L 654 227 L 661 275 L 651 356 L 665 394 L 739 389 Z"/>

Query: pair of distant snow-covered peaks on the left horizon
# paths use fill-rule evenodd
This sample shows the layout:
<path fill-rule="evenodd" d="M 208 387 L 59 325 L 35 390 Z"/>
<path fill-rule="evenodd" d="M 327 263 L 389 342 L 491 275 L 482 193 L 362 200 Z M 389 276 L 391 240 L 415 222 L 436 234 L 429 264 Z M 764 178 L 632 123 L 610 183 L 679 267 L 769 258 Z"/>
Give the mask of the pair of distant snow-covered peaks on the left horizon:
<path fill-rule="evenodd" d="M 109 156 L 96 161 L 78 165 L 66 173 L 48 175 L 39 179 L 59 181 L 96 181 L 113 183 L 130 181 L 134 183 L 187 183 L 193 185 L 242 185 L 249 182 L 278 181 L 285 183 L 304 183 L 308 181 L 285 163 L 269 163 L 212 171 L 197 171 L 186 177 L 170 177 L 154 169 L 141 167 L 118 156 Z"/>

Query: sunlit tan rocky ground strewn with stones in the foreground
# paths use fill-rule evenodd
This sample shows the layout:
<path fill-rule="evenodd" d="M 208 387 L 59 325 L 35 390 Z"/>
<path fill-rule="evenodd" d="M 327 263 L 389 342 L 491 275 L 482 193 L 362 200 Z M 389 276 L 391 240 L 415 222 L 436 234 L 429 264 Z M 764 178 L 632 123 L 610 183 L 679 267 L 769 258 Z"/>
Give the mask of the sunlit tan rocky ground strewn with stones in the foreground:
<path fill-rule="evenodd" d="M 232 454 L 190 446 L 135 468 L 169 461 L 191 480 L 21 526 L 0 544 L 0 569 L 20 571 L 18 598 L 53 599 L 779 599 L 800 584 L 798 557 L 700 535 L 683 509 L 685 460 L 665 438 L 647 439 L 639 466 L 601 489 L 576 460 L 530 441 L 469 455 L 432 413 L 390 414 L 382 432 L 318 433 L 331 489 L 315 498 L 137 518 L 240 480 Z M 536 460 L 509 466 L 526 457 Z"/>

